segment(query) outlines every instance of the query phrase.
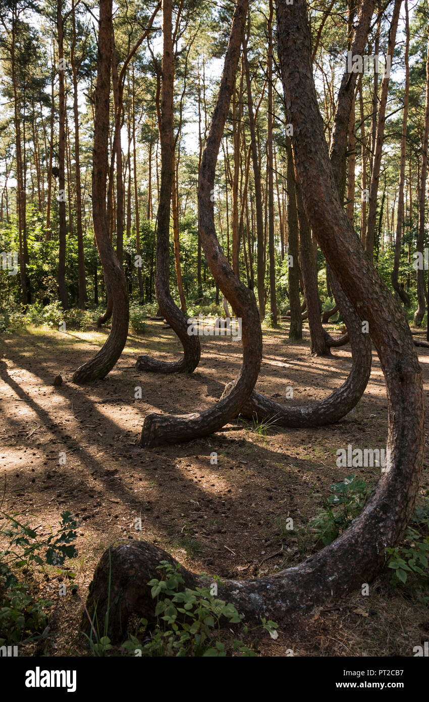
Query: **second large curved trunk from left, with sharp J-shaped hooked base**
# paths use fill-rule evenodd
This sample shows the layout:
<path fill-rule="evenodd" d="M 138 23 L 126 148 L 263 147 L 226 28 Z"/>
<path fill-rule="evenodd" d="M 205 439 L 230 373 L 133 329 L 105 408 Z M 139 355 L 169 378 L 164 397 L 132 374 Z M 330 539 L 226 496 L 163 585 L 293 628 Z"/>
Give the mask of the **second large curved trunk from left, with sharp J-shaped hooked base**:
<path fill-rule="evenodd" d="M 172 4 L 163 2 L 163 65 L 161 92 L 161 190 L 158 202 L 158 228 L 156 236 L 155 292 L 161 314 L 177 333 L 183 346 L 183 356 L 177 361 L 166 362 L 151 356 L 139 356 L 137 371 L 156 373 L 192 373 L 201 357 L 198 336 L 189 336 L 187 318 L 179 310 L 170 293 L 170 206 L 174 181 L 173 91 L 175 65 L 172 45 Z M 178 234 L 178 232 L 177 232 Z M 177 242 L 178 245 L 178 242 Z M 176 260 L 177 263 L 177 260 Z M 178 277 L 179 282 L 179 277 Z M 182 304 L 184 300 L 182 301 Z"/>

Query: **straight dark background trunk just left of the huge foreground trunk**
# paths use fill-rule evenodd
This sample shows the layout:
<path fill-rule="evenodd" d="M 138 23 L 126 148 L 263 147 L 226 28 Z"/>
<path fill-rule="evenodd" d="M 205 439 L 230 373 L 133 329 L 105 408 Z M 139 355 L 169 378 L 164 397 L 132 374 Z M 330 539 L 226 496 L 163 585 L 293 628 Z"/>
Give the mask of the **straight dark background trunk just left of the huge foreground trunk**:
<path fill-rule="evenodd" d="M 289 267 L 290 339 L 302 338 L 301 301 L 299 300 L 299 245 L 297 191 L 295 188 L 294 159 L 290 138 L 286 138 L 287 159 L 287 253 L 292 256 Z"/>

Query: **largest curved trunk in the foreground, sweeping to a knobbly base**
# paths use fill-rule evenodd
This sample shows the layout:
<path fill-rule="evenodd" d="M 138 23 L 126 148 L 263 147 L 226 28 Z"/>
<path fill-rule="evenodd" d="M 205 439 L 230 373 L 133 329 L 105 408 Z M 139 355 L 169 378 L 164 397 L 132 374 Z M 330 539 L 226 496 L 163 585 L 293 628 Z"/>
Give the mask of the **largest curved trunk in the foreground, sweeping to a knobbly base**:
<path fill-rule="evenodd" d="M 334 543 L 297 567 L 249 580 L 225 580 L 218 597 L 248 620 L 279 619 L 287 611 L 343 595 L 369 582 L 386 562 L 386 547 L 407 527 L 423 468 L 423 387 L 411 333 L 400 305 L 381 282 L 343 211 L 329 163 L 311 65 L 311 37 L 304 0 L 277 0 L 278 45 L 294 152 L 308 220 L 327 261 L 350 300 L 367 319 L 379 351 L 389 404 L 390 465 L 365 508 Z M 130 614 L 155 621 L 156 601 L 146 583 L 160 560 L 175 560 L 153 545 L 135 541 L 104 553 L 90 588 L 88 609 L 101 620 L 109 599 L 111 639 L 121 635 Z M 185 585 L 207 579 L 180 567 Z M 207 576 L 206 576 L 207 577 Z M 136 582 L 142 583 L 140 587 Z"/>

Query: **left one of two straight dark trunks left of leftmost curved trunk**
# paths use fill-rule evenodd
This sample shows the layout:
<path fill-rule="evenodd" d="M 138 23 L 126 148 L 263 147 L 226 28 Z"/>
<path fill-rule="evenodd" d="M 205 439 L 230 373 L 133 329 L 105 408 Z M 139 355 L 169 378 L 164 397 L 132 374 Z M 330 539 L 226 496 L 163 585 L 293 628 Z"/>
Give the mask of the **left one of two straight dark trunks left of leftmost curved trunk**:
<path fill-rule="evenodd" d="M 66 148 L 66 105 L 65 105 L 65 90 L 64 90 L 64 29 L 62 20 L 62 0 L 57 0 L 57 33 L 58 33 L 58 218 L 59 218 L 59 253 L 58 253 L 58 295 L 62 309 L 67 310 L 69 301 L 67 299 L 67 287 L 65 284 L 65 269 L 66 269 L 66 243 L 67 243 L 67 224 L 66 224 L 66 206 L 65 206 L 65 148 Z"/>

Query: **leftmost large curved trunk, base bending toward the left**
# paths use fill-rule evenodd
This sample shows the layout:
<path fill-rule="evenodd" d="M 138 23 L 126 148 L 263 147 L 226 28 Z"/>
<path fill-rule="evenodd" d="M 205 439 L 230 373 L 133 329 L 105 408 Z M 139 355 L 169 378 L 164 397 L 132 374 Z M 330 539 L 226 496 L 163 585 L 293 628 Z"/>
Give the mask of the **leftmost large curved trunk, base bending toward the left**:
<path fill-rule="evenodd" d="M 106 343 L 97 355 L 74 373 L 74 383 L 104 378 L 121 356 L 128 336 L 128 291 L 125 274 L 115 256 L 109 236 L 106 213 L 107 150 L 109 140 L 109 93 L 111 60 L 112 0 L 100 1 L 100 25 L 95 88 L 95 126 L 93 149 L 93 223 L 95 241 L 111 287 L 113 318 Z"/>

